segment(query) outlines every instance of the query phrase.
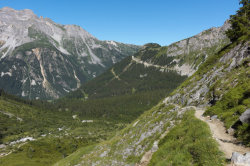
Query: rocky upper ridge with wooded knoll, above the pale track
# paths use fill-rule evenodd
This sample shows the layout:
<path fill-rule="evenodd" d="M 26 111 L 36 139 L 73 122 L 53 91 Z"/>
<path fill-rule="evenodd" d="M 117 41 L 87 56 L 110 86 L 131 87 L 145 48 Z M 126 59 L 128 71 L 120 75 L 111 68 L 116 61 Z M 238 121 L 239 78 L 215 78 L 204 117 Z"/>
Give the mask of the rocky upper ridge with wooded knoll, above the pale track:
<path fill-rule="evenodd" d="M 145 66 L 158 67 L 162 72 L 174 70 L 182 76 L 191 76 L 210 55 L 229 43 L 225 35 L 228 28 L 230 24 L 226 21 L 222 27 L 210 28 L 169 46 L 148 43 L 137 53 L 136 58 Z M 157 49 L 157 56 L 150 56 Z"/>

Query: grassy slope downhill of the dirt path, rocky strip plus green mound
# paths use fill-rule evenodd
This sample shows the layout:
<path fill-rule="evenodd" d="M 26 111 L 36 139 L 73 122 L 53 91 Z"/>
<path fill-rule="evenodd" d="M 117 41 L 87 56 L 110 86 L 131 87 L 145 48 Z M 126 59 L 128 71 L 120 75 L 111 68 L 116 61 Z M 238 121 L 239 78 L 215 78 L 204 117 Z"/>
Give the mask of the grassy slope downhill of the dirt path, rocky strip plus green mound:
<path fill-rule="evenodd" d="M 171 129 L 171 123 L 177 126 Z M 158 130 L 155 131 L 156 128 Z M 96 146 L 81 148 L 55 165 L 135 164 L 152 148 L 153 142 L 168 129 L 170 132 L 160 141 L 159 150 L 154 154 L 151 165 L 167 163 L 169 165 L 223 165 L 223 155 L 212 139 L 209 127 L 196 119 L 193 111 L 189 110 L 182 116 L 178 107 L 165 106 L 165 104 L 158 104 L 143 113 L 111 140 Z M 143 140 L 141 140 L 142 135 L 145 136 Z M 106 156 L 102 156 L 105 153 Z"/>

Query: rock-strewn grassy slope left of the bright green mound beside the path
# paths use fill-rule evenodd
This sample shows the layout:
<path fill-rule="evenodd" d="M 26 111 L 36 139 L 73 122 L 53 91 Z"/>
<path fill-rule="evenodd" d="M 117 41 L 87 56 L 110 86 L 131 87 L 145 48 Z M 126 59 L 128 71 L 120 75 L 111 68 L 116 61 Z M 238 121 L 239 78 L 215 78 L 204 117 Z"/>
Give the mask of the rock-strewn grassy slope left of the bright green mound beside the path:
<path fill-rule="evenodd" d="M 177 110 L 173 105 L 165 106 L 158 104 L 154 108 L 143 113 L 136 121 L 119 131 L 112 139 L 102 142 L 96 146 L 84 147 L 67 158 L 56 163 L 56 166 L 75 165 L 125 165 L 125 163 L 136 163 L 142 157 L 144 151 L 152 147 L 153 141 L 160 137 L 161 132 L 170 126 L 170 121 L 176 119 Z M 162 126 L 158 130 L 159 122 Z M 134 124 L 137 122 L 136 126 Z M 141 139 L 141 135 L 146 135 Z M 126 149 L 131 149 L 127 153 Z M 107 155 L 101 157 L 105 151 Z"/>

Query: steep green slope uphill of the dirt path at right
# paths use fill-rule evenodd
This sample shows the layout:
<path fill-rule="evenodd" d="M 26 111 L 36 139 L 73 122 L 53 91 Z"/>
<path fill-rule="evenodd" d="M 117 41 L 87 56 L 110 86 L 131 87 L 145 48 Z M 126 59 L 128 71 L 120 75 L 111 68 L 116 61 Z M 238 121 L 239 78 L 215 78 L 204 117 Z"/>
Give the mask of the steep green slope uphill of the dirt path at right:
<path fill-rule="evenodd" d="M 199 70 L 172 92 L 171 95 L 173 96 L 179 93 L 181 96 L 185 96 L 188 94 L 188 96 L 184 97 L 184 103 L 180 103 L 181 100 L 178 100 L 179 104 L 186 105 L 190 96 L 196 92 L 193 88 L 197 86 L 197 82 L 214 75 L 214 71 L 221 69 L 222 74 L 213 77 L 212 80 L 206 83 L 209 91 L 206 94 L 202 94 L 204 99 L 191 104 L 202 105 L 212 102 L 211 107 L 208 107 L 205 114 L 210 116 L 218 115 L 219 119 L 224 122 L 225 127 L 227 129 L 234 127 L 236 131 L 235 136 L 238 137 L 242 143 L 249 146 L 250 126 L 249 124 L 240 124 L 238 120 L 239 116 L 250 107 L 250 70 L 248 65 L 250 59 L 249 57 L 242 59 L 239 65 L 233 69 L 229 69 L 232 60 L 229 59 L 226 63 L 220 61 L 220 59 L 225 57 L 227 53 L 230 53 L 234 48 L 244 47 L 248 43 L 249 41 L 233 42 L 223 48 L 219 53 L 209 57 L 207 61 L 200 66 Z"/>

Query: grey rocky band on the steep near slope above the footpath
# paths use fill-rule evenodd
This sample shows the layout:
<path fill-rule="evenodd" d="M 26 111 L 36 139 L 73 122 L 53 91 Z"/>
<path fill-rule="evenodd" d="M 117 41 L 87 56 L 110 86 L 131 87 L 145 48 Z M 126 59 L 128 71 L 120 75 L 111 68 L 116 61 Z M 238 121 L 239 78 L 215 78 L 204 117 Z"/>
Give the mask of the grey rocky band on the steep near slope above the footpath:
<path fill-rule="evenodd" d="M 170 97 L 169 101 L 181 105 L 208 106 L 220 100 L 229 87 L 235 87 L 239 84 L 239 78 L 237 77 L 240 71 L 235 69 L 240 65 L 244 65 L 244 60 L 249 56 L 248 48 L 247 43 L 235 46 L 224 54 L 217 65 L 214 65 L 210 71 L 190 78 L 188 84 L 176 90 L 176 93 Z M 236 78 L 232 81 L 233 70 L 236 72 L 234 74 Z M 247 115 L 246 112 L 242 119 L 245 120 Z"/>

